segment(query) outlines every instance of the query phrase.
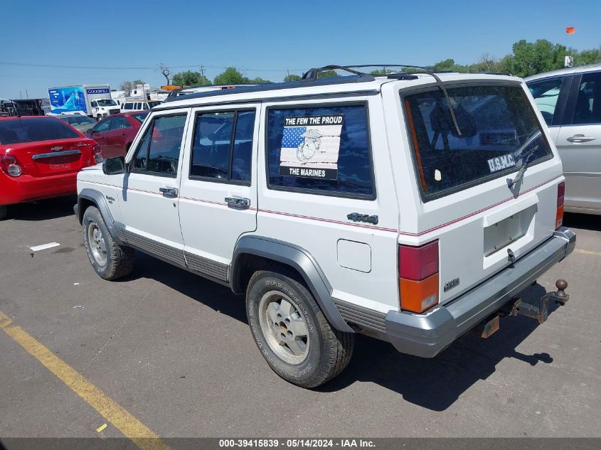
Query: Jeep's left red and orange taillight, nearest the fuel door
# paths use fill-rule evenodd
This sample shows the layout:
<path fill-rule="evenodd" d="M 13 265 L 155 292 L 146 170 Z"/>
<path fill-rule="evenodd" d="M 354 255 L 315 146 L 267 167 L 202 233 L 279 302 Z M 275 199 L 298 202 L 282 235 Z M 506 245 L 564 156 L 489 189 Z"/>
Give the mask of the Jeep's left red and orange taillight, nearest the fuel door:
<path fill-rule="evenodd" d="M 438 241 L 398 248 L 400 308 L 421 313 L 438 304 Z"/>

